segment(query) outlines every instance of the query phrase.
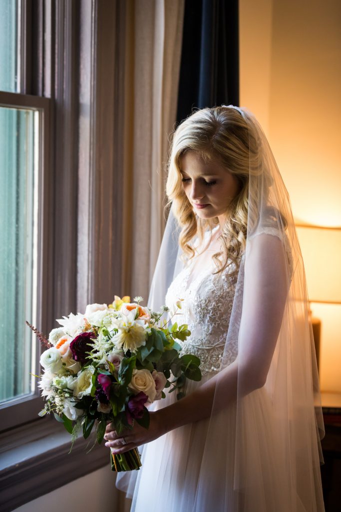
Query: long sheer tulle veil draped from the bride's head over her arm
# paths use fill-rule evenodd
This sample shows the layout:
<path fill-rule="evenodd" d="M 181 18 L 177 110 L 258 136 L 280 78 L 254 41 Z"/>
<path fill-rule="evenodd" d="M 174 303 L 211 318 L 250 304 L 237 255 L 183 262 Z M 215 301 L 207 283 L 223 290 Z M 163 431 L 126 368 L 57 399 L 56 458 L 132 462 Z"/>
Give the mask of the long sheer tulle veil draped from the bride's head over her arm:
<path fill-rule="evenodd" d="M 249 159 L 247 234 L 193 510 L 210 509 L 208 489 L 213 488 L 221 510 L 320 512 L 324 425 L 304 266 L 288 193 L 255 116 L 233 105 L 216 109 L 241 116 L 249 143 L 256 142 L 259 152 L 257 161 Z M 148 299 L 153 310 L 165 303 L 170 283 L 183 268 L 180 229 L 172 205 Z M 229 347 L 236 343 L 238 379 L 231 400 L 224 375 L 231 364 Z M 235 428 L 224 433 L 222 425 L 231 424 L 231 415 Z M 215 471 L 210 471 L 212 464 Z M 118 486 L 127 490 L 129 484 L 131 492 L 133 480 L 134 475 L 120 476 Z"/>

